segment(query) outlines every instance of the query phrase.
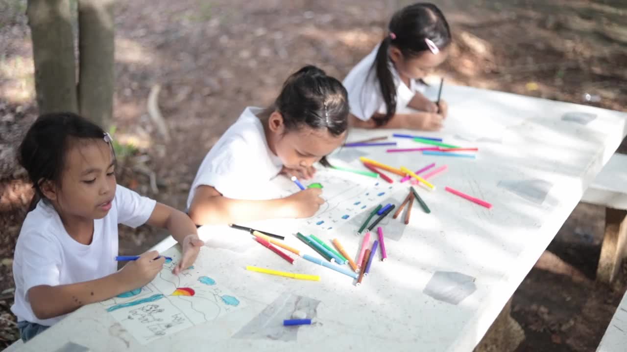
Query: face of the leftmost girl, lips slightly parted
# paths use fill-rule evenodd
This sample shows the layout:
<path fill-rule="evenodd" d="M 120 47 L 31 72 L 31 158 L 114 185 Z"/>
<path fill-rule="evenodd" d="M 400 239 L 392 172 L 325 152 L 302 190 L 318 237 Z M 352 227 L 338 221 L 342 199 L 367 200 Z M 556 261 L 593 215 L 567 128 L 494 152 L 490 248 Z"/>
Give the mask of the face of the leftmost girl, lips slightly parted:
<path fill-rule="evenodd" d="M 104 140 L 74 142 L 66 155 L 61 187 L 42 187 L 63 218 L 102 219 L 115 195 L 115 159 Z"/>

